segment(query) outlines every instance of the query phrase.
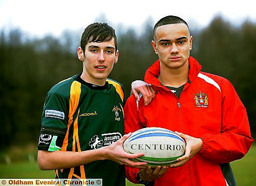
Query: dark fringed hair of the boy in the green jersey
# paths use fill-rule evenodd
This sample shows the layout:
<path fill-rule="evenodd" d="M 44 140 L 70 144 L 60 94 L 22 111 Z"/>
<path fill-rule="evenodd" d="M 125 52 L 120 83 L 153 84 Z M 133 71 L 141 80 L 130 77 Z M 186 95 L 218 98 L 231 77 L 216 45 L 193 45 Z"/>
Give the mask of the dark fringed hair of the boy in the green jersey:
<path fill-rule="evenodd" d="M 92 23 L 88 25 L 81 36 L 80 47 L 85 50 L 88 42 L 110 41 L 114 38 L 115 51 L 117 50 L 117 38 L 115 30 L 107 23 Z"/>

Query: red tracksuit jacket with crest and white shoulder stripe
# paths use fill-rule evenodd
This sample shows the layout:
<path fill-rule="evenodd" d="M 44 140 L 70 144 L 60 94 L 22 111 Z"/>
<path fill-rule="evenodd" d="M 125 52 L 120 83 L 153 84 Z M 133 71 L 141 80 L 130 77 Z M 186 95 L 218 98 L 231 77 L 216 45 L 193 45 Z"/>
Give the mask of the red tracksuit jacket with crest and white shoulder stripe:
<path fill-rule="evenodd" d="M 178 98 L 161 85 L 157 60 L 145 73 L 145 82 L 157 90 L 152 102 L 138 109 L 134 96 L 127 99 L 125 133 L 143 127 L 163 127 L 203 139 L 201 150 L 186 164 L 169 168 L 154 185 L 225 186 L 220 163 L 241 159 L 249 151 L 253 139 L 244 105 L 227 79 L 204 73 L 201 65 L 190 56 L 188 79 Z M 126 167 L 126 176 L 133 183 L 138 168 Z"/>

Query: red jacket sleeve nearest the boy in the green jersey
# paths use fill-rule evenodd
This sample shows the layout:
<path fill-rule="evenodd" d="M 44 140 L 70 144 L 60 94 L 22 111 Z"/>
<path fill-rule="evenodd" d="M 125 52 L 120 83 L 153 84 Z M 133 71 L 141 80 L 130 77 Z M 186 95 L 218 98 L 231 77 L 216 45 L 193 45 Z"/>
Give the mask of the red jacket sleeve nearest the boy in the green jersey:
<path fill-rule="evenodd" d="M 140 102 L 144 102 L 144 101 L 140 100 Z M 140 123 L 138 109 L 137 109 L 137 101 L 133 95 L 131 95 L 127 99 L 127 102 L 124 107 L 124 115 L 125 115 L 125 134 L 128 134 L 129 132 L 137 131 L 140 128 L 144 127 L 144 125 Z M 125 169 L 126 169 L 126 178 L 133 183 L 138 183 L 136 177 L 137 177 L 139 168 L 126 166 Z"/>

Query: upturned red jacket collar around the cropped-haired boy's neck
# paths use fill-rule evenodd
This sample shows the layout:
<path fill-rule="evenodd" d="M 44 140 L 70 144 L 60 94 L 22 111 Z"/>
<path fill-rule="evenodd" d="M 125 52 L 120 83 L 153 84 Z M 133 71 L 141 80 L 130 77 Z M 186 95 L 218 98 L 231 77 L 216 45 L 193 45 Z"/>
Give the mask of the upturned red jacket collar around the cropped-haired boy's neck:
<path fill-rule="evenodd" d="M 190 81 L 193 81 L 197 77 L 197 75 L 198 75 L 199 71 L 201 70 L 202 66 L 192 56 L 190 56 L 188 58 L 188 65 L 189 65 L 189 68 L 190 68 L 189 71 L 188 71 L 188 79 Z M 159 74 L 160 74 L 160 61 L 158 59 L 155 63 L 153 63 L 153 65 L 151 65 L 146 70 L 144 80 L 147 83 L 156 85 L 158 87 L 162 87 L 160 81 L 157 79 Z"/>

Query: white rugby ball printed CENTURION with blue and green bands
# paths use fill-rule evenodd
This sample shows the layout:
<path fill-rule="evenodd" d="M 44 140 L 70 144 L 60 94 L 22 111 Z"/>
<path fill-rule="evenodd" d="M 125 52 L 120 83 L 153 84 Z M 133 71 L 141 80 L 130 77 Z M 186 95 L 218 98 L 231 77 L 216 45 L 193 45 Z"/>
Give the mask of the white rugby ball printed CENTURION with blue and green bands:
<path fill-rule="evenodd" d="M 142 128 L 124 141 L 123 148 L 130 154 L 144 153 L 132 159 L 147 166 L 168 166 L 185 153 L 185 141 L 176 133 L 160 127 Z"/>

